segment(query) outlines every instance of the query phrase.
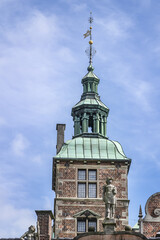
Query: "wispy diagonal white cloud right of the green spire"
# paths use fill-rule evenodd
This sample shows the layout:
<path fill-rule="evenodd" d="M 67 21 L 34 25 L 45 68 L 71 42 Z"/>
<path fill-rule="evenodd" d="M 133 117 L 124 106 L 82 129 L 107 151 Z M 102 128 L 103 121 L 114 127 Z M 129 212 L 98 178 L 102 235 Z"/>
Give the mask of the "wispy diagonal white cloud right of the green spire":
<path fill-rule="evenodd" d="M 128 102 L 138 105 L 145 112 L 152 111 L 151 96 L 154 91 L 153 85 L 145 80 L 143 71 L 137 76 L 137 71 L 132 67 L 132 61 L 128 63 L 121 56 L 119 58 L 113 57 L 110 60 L 110 68 L 107 70 L 111 76 L 110 80 L 114 81 L 114 84 L 120 88 L 123 88 Z M 117 63 L 114 64 L 114 62 Z"/>

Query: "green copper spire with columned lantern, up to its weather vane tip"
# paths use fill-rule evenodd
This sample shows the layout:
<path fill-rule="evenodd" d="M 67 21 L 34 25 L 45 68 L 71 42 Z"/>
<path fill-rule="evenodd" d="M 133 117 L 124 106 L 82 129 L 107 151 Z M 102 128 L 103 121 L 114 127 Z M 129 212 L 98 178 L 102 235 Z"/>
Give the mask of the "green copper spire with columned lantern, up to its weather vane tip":
<path fill-rule="evenodd" d="M 95 54 L 92 41 L 92 22 L 90 15 L 90 30 L 84 34 L 84 38 L 90 36 L 88 73 L 82 78 L 83 94 L 81 100 L 72 108 L 74 121 L 74 137 L 98 137 L 106 138 L 106 124 L 109 109 L 101 102 L 98 95 L 99 78 L 94 74 L 92 58 Z"/>

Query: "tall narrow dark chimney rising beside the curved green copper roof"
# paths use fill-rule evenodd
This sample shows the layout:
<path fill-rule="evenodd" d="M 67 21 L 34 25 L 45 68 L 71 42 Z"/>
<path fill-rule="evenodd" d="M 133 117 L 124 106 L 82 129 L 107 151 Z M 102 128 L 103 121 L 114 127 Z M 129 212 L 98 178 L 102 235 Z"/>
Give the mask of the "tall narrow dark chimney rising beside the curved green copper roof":
<path fill-rule="evenodd" d="M 57 130 L 57 153 L 61 150 L 63 144 L 64 144 L 64 130 L 66 128 L 66 124 L 57 124 L 56 130 Z"/>

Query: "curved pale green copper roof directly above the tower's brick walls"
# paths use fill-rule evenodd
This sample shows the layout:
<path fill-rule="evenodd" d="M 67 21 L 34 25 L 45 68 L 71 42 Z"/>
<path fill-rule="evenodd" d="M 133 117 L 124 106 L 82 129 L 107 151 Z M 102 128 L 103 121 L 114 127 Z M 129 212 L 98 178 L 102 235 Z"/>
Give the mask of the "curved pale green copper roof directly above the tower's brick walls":
<path fill-rule="evenodd" d="M 129 160 L 120 143 L 105 138 L 77 137 L 62 146 L 56 159 Z"/>

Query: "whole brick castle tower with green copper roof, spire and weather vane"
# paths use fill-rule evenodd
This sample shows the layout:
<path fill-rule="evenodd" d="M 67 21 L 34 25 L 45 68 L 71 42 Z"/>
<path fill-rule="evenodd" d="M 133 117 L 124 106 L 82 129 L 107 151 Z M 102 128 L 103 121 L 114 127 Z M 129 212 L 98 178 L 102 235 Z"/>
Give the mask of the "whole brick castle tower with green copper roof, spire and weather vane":
<path fill-rule="evenodd" d="M 90 24 L 93 19 L 90 17 Z M 82 78 L 83 93 L 72 108 L 74 136 L 64 143 L 64 124 L 57 124 L 57 155 L 53 158 L 55 191 L 55 238 L 74 238 L 77 234 L 103 231 L 105 203 L 103 186 L 107 178 L 117 189 L 116 230 L 128 224 L 128 181 L 131 160 L 117 141 L 106 133 L 109 109 L 98 95 L 100 79 L 92 66 L 92 26 L 89 41 L 89 67 Z M 93 228 L 94 227 L 94 228 Z"/>

